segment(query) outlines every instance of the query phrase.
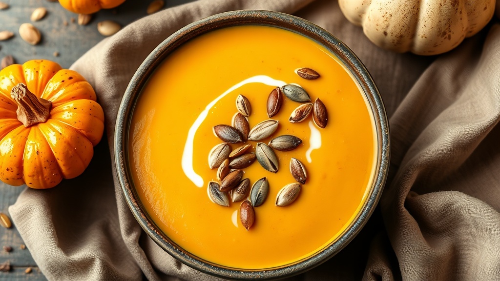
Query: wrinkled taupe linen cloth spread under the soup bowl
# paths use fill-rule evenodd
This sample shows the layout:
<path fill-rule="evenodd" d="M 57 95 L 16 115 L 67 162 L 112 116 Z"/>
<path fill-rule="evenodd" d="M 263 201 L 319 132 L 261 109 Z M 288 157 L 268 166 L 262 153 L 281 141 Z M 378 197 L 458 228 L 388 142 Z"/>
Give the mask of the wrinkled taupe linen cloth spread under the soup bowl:
<path fill-rule="evenodd" d="M 390 170 L 375 212 L 325 263 L 289 280 L 500 279 L 500 25 L 493 19 L 432 57 L 372 44 L 332 0 L 199 0 L 104 39 L 71 68 L 94 87 L 106 135 L 89 167 L 49 190 L 26 188 L 9 212 L 50 280 L 215 280 L 176 261 L 140 228 L 117 183 L 113 130 L 144 58 L 182 26 L 234 9 L 292 13 L 363 61 L 389 117 Z M 107 143 L 106 143 L 107 140 Z"/>

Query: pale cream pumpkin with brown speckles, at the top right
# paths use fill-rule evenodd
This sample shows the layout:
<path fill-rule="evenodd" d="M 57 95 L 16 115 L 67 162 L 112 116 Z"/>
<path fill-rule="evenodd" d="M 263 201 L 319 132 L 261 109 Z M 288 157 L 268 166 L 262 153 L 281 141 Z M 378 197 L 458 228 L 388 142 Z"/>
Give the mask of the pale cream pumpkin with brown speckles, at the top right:
<path fill-rule="evenodd" d="M 451 50 L 491 19 L 495 0 L 339 0 L 345 17 L 376 45 L 432 55 Z"/>

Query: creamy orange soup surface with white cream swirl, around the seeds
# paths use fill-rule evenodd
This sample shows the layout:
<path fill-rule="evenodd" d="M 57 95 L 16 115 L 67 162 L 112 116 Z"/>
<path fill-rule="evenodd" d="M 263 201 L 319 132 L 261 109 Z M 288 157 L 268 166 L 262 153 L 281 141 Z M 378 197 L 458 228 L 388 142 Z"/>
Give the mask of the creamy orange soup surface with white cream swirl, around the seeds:
<path fill-rule="evenodd" d="M 320 78 L 306 80 L 295 69 L 310 67 Z M 266 100 L 276 86 L 296 83 L 312 101 L 319 97 L 328 124 L 309 116 L 290 123 L 300 103 L 284 98 L 277 130 L 269 140 L 292 134 L 302 143 L 277 151 L 279 169 L 257 162 L 244 168 L 253 184 L 267 177 L 269 193 L 254 208 L 246 230 L 240 202 L 213 203 L 207 184 L 210 149 L 222 141 L 212 127 L 231 124 L 238 94 L 251 103 L 250 127 L 268 119 Z M 145 211 L 176 244 L 211 263 L 242 269 L 297 262 L 335 241 L 365 203 L 374 176 L 376 138 L 371 110 L 356 82 L 326 48 L 294 32 L 267 26 L 237 26 L 198 36 L 169 55 L 155 70 L 134 107 L 128 155 L 133 184 Z M 257 141 L 248 141 L 255 152 Z M 230 144 L 232 149 L 242 143 Z M 276 194 L 295 182 L 290 157 L 307 170 L 297 199 L 278 207 Z"/>

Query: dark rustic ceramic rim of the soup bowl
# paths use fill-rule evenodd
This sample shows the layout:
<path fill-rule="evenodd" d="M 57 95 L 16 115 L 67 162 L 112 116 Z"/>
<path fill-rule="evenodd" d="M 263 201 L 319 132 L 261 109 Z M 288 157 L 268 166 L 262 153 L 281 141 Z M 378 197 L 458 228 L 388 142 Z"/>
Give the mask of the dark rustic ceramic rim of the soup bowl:
<path fill-rule="evenodd" d="M 214 265 L 184 251 L 163 234 L 148 217 L 147 213 L 142 210 L 140 200 L 137 198 L 130 180 L 127 165 L 126 151 L 128 149 L 130 117 L 135 102 L 149 75 L 169 53 L 190 38 L 210 30 L 235 25 L 267 25 L 288 29 L 325 46 L 351 71 L 351 76 L 356 79 L 368 99 L 375 121 L 376 139 L 378 141 L 376 145 L 377 163 L 371 189 L 358 215 L 336 240 L 322 250 L 298 262 L 274 268 L 248 270 L 224 267 Z M 163 40 L 138 67 L 124 92 L 117 112 L 113 148 L 116 177 L 123 196 L 133 216 L 149 237 L 182 263 L 204 273 L 230 279 L 283 278 L 311 269 L 335 255 L 354 238 L 373 212 L 382 194 L 390 159 L 389 124 L 383 102 L 373 79 L 359 58 L 343 42 L 323 28 L 300 17 L 266 10 L 234 10 L 218 13 L 190 23 Z"/>

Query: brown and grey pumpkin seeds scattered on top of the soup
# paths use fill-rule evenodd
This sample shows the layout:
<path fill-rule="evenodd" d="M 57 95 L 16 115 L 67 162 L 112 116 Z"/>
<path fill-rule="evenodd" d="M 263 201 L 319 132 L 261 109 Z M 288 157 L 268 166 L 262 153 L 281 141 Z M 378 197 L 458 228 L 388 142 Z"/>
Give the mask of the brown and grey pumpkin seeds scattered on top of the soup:
<path fill-rule="evenodd" d="M 320 75 L 310 68 L 300 68 L 296 73 L 304 79 L 316 79 Z M 274 88 L 267 97 L 267 116 L 274 116 L 283 103 L 283 95 L 290 100 L 300 102 L 290 114 L 291 123 L 305 120 L 312 112 L 314 123 L 324 128 L 328 121 L 326 107 L 319 98 L 311 103 L 309 94 L 300 86 L 286 84 Z M 232 202 L 241 201 L 239 206 L 239 218 L 243 226 L 248 230 L 255 220 L 254 207 L 264 203 L 269 193 L 267 177 L 255 181 L 250 188 L 250 180 L 243 178 L 243 169 L 250 166 L 255 159 L 259 164 L 270 172 L 277 172 L 279 168 L 278 158 L 273 149 L 289 151 L 296 148 L 302 140 L 294 135 L 283 134 L 272 138 L 268 144 L 258 142 L 276 131 L 278 120 L 267 119 L 259 122 L 250 129 L 247 117 L 251 114 L 251 104 L 244 95 L 236 98 L 236 109 L 231 125 L 219 124 L 213 127 L 213 133 L 223 143 L 215 145 L 208 153 L 208 166 L 217 168 L 217 181 L 208 182 L 207 192 L 210 200 L 222 206 L 229 206 L 229 198 Z M 242 144 L 231 151 L 229 143 L 240 143 L 248 140 L 257 141 L 255 152 L 249 150 L 251 144 Z M 291 204 L 300 192 L 301 185 L 305 184 L 307 173 L 302 162 L 291 158 L 289 163 L 290 173 L 297 182 L 283 186 L 276 195 L 275 205 L 286 206 Z"/>

